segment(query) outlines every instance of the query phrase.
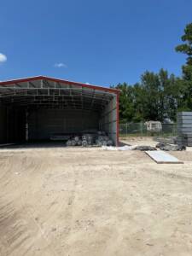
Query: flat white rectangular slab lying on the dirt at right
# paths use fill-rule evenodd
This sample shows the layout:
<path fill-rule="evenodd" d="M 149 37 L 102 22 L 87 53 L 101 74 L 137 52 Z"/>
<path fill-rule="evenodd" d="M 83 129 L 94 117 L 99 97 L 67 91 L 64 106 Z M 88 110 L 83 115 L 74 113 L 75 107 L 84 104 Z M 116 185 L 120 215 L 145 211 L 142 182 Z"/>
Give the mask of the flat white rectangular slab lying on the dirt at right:
<path fill-rule="evenodd" d="M 164 151 L 145 151 L 145 153 L 157 164 L 183 164 L 183 161 Z"/>

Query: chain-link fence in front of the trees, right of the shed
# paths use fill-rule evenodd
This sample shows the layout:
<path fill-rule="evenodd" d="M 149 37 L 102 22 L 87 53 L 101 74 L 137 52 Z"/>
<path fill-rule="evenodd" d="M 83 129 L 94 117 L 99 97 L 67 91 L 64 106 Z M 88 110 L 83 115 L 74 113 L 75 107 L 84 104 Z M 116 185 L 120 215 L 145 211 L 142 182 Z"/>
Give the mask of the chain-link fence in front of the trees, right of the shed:
<path fill-rule="evenodd" d="M 161 124 L 160 131 L 148 131 L 145 123 L 119 124 L 120 137 L 177 136 L 177 124 Z"/>

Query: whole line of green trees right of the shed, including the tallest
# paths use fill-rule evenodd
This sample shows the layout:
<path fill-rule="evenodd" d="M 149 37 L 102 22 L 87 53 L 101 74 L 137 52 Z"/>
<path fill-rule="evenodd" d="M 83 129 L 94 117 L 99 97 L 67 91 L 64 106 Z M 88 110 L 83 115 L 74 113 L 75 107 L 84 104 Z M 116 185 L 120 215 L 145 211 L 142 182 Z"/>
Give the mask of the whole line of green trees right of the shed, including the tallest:
<path fill-rule="evenodd" d="M 192 111 L 192 23 L 184 29 L 183 44 L 177 52 L 187 55 L 182 67 L 182 77 L 146 71 L 137 84 L 117 84 L 120 90 L 119 118 L 121 122 L 160 120 L 175 121 L 177 111 Z"/>

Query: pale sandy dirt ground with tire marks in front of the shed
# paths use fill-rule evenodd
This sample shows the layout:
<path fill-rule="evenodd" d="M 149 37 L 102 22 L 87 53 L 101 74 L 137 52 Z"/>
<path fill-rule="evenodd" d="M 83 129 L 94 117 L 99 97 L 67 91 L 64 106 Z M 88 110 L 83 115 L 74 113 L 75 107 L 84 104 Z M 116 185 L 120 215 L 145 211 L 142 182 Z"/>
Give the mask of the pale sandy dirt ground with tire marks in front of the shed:
<path fill-rule="evenodd" d="M 191 256 L 192 150 L 172 154 L 0 149 L 0 255 Z"/>

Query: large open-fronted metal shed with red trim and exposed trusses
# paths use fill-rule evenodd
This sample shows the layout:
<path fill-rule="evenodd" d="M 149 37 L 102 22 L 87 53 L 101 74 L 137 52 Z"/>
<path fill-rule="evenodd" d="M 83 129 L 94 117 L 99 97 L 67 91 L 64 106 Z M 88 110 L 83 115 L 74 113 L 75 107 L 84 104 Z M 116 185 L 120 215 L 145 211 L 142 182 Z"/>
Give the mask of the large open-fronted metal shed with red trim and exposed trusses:
<path fill-rule="evenodd" d="M 45 76 L 0 82 L 0 142 L 106 131 L 119 143 L 119 90 Z"/>

